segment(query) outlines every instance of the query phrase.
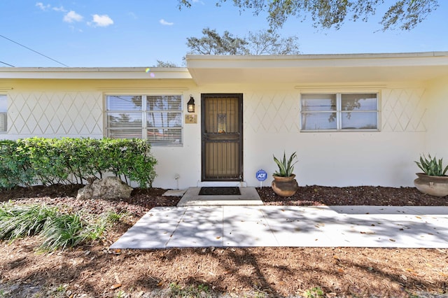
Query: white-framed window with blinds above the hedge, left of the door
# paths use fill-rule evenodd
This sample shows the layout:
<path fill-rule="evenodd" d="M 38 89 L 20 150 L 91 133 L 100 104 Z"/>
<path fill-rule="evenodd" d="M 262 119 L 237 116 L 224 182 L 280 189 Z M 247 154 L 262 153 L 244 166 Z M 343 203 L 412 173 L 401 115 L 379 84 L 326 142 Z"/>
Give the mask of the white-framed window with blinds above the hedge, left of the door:
<path fill-rule="evenodd" d="M 182 146 L 182 95 L 106 95 L 106 135 Z"/>

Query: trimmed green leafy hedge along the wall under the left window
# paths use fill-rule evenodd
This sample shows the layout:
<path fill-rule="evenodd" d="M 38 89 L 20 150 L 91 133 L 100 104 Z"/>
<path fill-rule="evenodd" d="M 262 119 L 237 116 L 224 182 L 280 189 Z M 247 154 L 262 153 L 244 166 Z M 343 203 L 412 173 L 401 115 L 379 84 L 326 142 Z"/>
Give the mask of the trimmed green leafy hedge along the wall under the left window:
<path fill-rule="evenodd" d="M 113 173 L 153 186 L 157 160 L 141 139 L 29 138 L 0 141 L 0 187 L 83 184 Z"/>

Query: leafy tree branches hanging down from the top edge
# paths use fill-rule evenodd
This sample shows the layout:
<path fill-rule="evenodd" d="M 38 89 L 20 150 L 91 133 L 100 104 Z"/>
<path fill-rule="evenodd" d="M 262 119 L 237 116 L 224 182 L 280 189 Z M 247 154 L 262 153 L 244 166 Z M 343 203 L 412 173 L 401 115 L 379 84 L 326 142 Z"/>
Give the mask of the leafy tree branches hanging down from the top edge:
<path fill-rule="evenodd" d="M 178 0 L 179 9 L 191 7 L 193 0 Z M 254 15 L 265 12 L 271 29 L 282 27 L 288 17 L 304 20 L 311 16 L 315 27 L 339 29 L 345 20 L 362 20 L 377 13 L 387 4 L 384 0 L 216 0 L 216 6 L 232 2 L 240 10 L 252 10 Z M 382 30 L 410 30 L 437 9 L 438 0 L 394 0 L 389 4 L 381 22 Z"/>

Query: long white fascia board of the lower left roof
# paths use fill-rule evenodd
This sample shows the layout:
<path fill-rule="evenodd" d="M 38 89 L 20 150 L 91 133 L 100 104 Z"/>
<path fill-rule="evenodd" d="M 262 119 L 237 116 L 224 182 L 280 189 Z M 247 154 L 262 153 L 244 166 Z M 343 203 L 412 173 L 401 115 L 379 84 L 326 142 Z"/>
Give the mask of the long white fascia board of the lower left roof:
<path fill-rule="evenodd" d="M 104 67 L 104 68 L 42 68 L 42 67 L 0 67 L 0 78 L 10 79 L 76 79 L 76 80 L 157 80 L 191 79 L 185 67 L 151 68 Z"/>

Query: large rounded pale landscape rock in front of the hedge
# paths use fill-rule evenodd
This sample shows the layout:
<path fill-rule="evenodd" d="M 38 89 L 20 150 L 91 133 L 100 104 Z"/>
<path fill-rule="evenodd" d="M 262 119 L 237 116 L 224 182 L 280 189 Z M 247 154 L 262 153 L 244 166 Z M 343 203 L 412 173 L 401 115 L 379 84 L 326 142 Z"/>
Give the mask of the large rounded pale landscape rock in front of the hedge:
<path fill-rule="evenodd" d="M 106 177 L 94 180 L 78 190 L 76 199 L 129 199 L 132 187 L 117 177 Z"/>

